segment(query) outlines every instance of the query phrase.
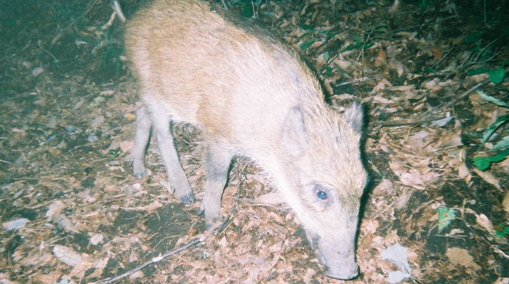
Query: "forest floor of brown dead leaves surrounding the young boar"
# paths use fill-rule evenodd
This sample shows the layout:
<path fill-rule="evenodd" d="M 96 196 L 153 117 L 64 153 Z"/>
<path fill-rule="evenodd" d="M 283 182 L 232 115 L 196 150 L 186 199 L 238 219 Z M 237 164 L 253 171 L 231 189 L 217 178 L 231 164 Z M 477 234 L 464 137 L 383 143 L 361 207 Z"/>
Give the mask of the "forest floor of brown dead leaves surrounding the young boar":
<path fill-rule="evenodd" d="M 144 4 L 120 3 L 127 21 Z M 473 165 L 508 137 L 502 125 L 480 148 L 508 114 L 480 93 L 509 102 L 509 81 L 482 72 L 508 65 L 509 1 L 224 4 L 293 45 L 332 104 L 367 107 L 359 277 L 324 275 L 249 160 L 233 163 L 226 226 L 207 235 L 191 126 L 174 133 L 197 202 L 168 190 L 155 141 L 137 180 L 137 87 L 109 1 L 26 0 L 0 5 L 0 283 L 99 282 L 196 238 L 116 283 L 509 283 L 509 161 Z"/>

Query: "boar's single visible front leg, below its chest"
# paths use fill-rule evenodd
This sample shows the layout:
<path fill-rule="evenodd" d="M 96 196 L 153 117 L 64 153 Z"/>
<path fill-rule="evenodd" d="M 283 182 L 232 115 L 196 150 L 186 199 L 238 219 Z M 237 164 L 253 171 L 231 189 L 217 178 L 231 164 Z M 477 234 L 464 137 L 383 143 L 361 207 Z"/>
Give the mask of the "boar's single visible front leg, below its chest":
<path fill-rule="evenodd" d="M 216 146 L 209 146 L 204 153 L 206 183 L 201 206 L 205 211 L 207 229 L 221 220 L 221 195 L 228 178 L 231 158 L 230 153 Z"/>

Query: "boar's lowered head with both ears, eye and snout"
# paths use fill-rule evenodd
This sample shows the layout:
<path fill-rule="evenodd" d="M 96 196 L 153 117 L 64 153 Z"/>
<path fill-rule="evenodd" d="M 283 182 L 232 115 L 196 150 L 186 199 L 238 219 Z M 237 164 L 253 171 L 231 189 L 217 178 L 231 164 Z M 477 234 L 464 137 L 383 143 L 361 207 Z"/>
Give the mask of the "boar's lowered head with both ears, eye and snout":
<path fill-rule="evenodd" d="M 359 271 L 355 240 L 367 183 L 361 132 L 362 108 L 353 104 L 342 114 L 295 107 L 280 136 L 286 158 L 278 187 L 331 278 L 351 279 Z"/>

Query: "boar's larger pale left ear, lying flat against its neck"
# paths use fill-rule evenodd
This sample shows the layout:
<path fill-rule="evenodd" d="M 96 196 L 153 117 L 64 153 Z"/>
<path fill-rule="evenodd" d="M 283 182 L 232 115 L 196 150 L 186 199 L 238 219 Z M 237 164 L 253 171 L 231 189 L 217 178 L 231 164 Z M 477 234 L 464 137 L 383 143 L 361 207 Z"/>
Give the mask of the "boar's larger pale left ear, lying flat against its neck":
<path fill-rule="evenodd" d="M 300 153 L 302 153 L 308 146 L 303 113 L 300 111 L 300 107 L 290 109 L 286 115 L 279 144 L 283 151 L 291 155 L 293 158 L 300 155 Z"/>

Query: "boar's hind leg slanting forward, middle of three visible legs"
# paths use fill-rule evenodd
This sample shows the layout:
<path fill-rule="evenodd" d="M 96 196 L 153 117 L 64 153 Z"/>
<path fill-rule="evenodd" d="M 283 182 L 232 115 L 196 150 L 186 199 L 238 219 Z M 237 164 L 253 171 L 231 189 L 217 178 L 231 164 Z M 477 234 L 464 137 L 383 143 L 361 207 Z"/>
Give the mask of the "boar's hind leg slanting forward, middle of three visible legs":
<path fill-rule="evenodd" d="M 166 166 L 168 182 L 182 203 L 192 203 L 196 201 L 196 198 L 191 191 L 186 173 L 184 173 L 179 163 L 179 154 L 175 149 L 172 132 L 169 130 L 169 116 L 164 110 L 157 107 L 152 108 L 151 111 L 152 123 L 157 136 L 157 146 Z"/>

